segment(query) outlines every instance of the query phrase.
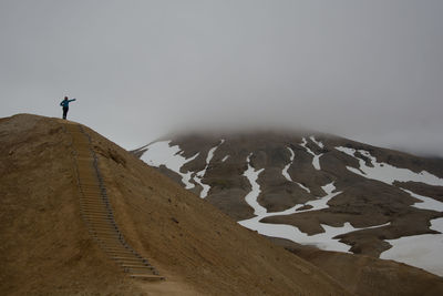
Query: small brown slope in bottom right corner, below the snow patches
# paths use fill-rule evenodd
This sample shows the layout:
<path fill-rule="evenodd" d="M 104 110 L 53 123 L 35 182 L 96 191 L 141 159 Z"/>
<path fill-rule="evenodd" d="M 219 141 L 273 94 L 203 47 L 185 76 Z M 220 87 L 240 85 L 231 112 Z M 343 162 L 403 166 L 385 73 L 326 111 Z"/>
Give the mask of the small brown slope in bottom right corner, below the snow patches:
<path fill-rule="evenodd" d="M 287 239 L 278 245 L 318 266 L 356 295 L 441 295 L 443 279 L 420 268 L 365 255 L 321 251 Z"/>

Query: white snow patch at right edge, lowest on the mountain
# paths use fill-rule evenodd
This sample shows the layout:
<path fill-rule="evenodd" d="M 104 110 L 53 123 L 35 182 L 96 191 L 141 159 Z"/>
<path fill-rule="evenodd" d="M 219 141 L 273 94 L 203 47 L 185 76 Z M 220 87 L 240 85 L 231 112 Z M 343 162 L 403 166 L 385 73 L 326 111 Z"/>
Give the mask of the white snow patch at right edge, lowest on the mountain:
<path fill-rule="evenodd" d="M 431 221 L 431 229 L 441 234 L 422 234 L 388 239 L 392 248 L 380 255 L 382 259 L 402 262 L 443 276 L 443 218 Z"/>

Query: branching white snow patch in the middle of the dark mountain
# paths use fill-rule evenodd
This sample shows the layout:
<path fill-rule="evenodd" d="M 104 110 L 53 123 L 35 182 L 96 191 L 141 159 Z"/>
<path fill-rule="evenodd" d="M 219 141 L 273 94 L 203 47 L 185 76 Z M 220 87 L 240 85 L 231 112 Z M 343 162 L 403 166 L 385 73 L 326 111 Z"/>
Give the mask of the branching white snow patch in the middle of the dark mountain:
<path fill-rule="evenodd" d="M 299 204 L 291 208 L 281 212 L 272 212 L 268 213 L 267 210 L 261 206 L 257 202 L 257 197 L 260 194 L 260 186 L 257 184 L 258 174 L 264 170 L 256 171 L 254 167 L 250 166 L 249 160 L 251 154 L 249 154 L 247 162 L 248 169 L 245 171 L 245 176 L 248 177 L 253 190 L 246 195 L 246 202 L 254 208 L 254 214 L 256 215 L 253 218 L 244 220 L 238 222 L 241 226 L 247 227 L 253 231 L 257 231 L 259 234 L 271 236 L 271 237 L 279 237 L 286 238 L 299 244 L 309 244 L 316 245 L 319 248 L 327 249 L 327 251 L 338 251 L 338 252 L 349 252 L 351 248 L 349 245 L 340 243 L 339 239 L 334 239 L 337 235 L 346 234 L 353 231 L 360 231 L 364 228 L 354 228 L 350 223 L 344 223 L 341 227 L 332 227 L 329 225 L 321 224 L 321 227 L 324 229 L 323 233 L 316 234 L 316 235 L 308 235 L 299 231 L 298 227 L 285 224 L 270 224 L 270 223 L 261 223 L 260 220 L 270 216 L 280 216 L 280 215 L 290 215 L 295 213 L 303 213 L 309 211 L 318 211 L 322 208 L 327 208 L 328 202 L 334 197 L 336 195 L 340 194 L 341 192 L 336 192 L 336 186 L 333 183 L 327 184 L 322 186 L 322 190 L 327 193 L 327 195 L 319 197 L 316 201 L 307 202 L 306 204 Z M 303 205 L 311 205 L 312 208 L 297 211 L 297 208 L 302 207 Z M 372 227 L 382 227 L 389 225 L 377 225 Z M 371 228 L 371 227 L 368 227 Z"/>

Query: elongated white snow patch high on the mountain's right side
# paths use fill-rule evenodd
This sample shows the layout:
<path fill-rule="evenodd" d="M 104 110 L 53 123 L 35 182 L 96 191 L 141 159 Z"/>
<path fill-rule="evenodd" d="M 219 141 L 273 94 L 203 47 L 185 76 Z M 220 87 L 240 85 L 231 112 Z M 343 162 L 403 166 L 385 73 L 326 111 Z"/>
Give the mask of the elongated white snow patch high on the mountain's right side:
<path fill-rule="evenodd" d="M 338 151 L 341 151 L 359 161 L 360 170 L 357 170 L 351 166 L 347 166 L 349 171 L 356 173 L 358 175 L 364 176 L 367 178 L 378 180 L 384 182 L 387 184 L 392 185 L 395 181 L 399 182 L 422 182 L 434 186 L 443 186 L 443 178 L 434 176 L 433 174 L 427 173 L 426 171 L 422 171 L 420 173 L 414 173 L 408 169 L 400 169 L 392 166 L 388 163 L 380 163 L 377 161 L 374 156 L 372 156 L 365 150 L 354 150 L 349 147 L 336 147 Z M 365 162 L 354 155 L 356 152 L 360 152 L 362 155 L 367 156 L 371 160 L 373 167 L 368 166 Z"/>

